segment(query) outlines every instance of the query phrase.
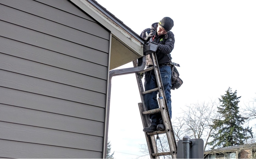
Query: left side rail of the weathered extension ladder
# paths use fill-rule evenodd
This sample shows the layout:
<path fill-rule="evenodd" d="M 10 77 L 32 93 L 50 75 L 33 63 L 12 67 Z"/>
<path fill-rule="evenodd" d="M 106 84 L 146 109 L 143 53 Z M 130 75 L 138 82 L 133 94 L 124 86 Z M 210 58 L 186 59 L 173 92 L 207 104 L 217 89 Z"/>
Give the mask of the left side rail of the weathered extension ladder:
<path fill-rule="evenodd" d="M 134 60 L 133 61 L 133 66 L 136 67 L 137 65 L 138 65 L 137 60 Z M 145 107 L 145 104 L 144 104 L 144 96 L 142 95 L 142 92 L 144 92 L 144 87 L 143 87 L 143 84 L 142 84 L 140 74 L 135 73 L 135 75 L 136 75 L 136 80 L 137 80 L 138 87 L 139 87 L 139 92 L 140 92 L 139 94 L 141 96 L 141 103 L 138 103 L 139 111 L 140 111 L 140 114 L 141 114 L 142 125 L 145 128 L 145 127 L 150 126 L 151 122 L 150 122 L 149 116 L 142 114 L 142 112 L 146 111 L 146 107 Z M 144 134 L 145 134 L 145 137 L 146 137 L 146 142 L 147 142 L 147 146 L 148 146 L 148 149 L 149 149 L 150 158 L 159 158 L 157 156 L 152 156 L 152 154 L 157 154 L 158 153 L 155 136 L 147 135 L 146 132 Z M 154 148 L 156 148 L 156 149 L 154 149 Z"/>

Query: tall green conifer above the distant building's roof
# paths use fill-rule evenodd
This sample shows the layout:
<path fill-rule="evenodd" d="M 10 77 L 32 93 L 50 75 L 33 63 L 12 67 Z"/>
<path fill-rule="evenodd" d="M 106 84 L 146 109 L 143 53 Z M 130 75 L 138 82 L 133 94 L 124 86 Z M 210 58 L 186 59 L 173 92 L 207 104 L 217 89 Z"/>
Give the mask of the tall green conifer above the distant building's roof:
<path fill-rule="evenodd" d="M 221 120 L 214 120 L 214 126 L 219 129 L 215 134 L 211 135 L 213 141 L 210 145 L 218 147 L 234 146 L 234 145 L 244 145 L 248 138 L 253 137 L 252 128 L 243 128 L 243 123 L 246 117 L 242 117 L 239 114 L 237 91 L 233 93 L 229 87 L 224 96 L 219 98 L 221 102 L 220 107 L 218 107 L 218 112 L 222 114 Z"/>

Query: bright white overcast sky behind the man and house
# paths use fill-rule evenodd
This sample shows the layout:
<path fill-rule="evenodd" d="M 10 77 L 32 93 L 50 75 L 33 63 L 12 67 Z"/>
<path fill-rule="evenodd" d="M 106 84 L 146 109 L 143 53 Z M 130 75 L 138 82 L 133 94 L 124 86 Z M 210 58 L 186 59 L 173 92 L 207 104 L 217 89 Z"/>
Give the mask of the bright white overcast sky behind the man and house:
<path fill-rule="evenodd" d="M 240 107 L 256 97 L 255 1 L 96 1 L 137 34 L 165 16 L 174 20 L 171 56 L 181 65 L 184 84 L 171 91 L 172 120 L 185 105 L 218 99 L 228 87 L 242 96 Z M 132 63 L 117 69 L 129 67 Z M 139 102 L 135 74 L 112 78 L 109 140 L 115 158 L 144 155 L 139 152 L 140 144 L 146 144 Z"/>

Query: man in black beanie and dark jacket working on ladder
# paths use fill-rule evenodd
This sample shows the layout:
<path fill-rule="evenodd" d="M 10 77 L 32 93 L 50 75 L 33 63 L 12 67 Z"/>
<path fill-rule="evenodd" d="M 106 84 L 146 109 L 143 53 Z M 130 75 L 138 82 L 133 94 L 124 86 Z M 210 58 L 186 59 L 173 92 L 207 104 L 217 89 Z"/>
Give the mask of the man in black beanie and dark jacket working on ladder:
<path fill-rule="evenodd" d="M 159 71 L 161 74 L 161 80 L 164 88 L 164 93 L 167 101 L 167 107 L 171 119 L 171 51 L 174 48 L 174 34 L 170 31 L 173 27 L 173 20 L 170 17 L 164 17 L 160 22 L 152 24 L 152 28 L 147 28 L 142 31 L 141 37 L 147 42 L 153 39 L 153 42 L 158 43 L 158 49 L 156 50 L 156 58 L 158 61 Z M 151 55 L 151 54 L 150 54 Z M 147 68 L 153 66 L 152 57 L 147 55 Z M 156 77 L 153 70 L 145 73 L 145 91 L 151 90 L 157 87 Z M 159 108 L 157 101 L 158 91 L 147 93 L 144 96 L 144 103 L 147 110 L 153 110 Z M 151 125 L 143 129 L 146 133 L 153 131 L 164 130 L 163 119 L 161 113 L 155 113 L 149 115 L 151 119 Z"/>

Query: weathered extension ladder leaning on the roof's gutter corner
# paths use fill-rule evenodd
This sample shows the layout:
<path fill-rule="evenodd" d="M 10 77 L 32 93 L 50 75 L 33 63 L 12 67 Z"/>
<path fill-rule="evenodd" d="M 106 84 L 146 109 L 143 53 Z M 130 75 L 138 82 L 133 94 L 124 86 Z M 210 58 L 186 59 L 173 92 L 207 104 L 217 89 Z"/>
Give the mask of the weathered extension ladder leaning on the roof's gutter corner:
<path fill-rule="evenodd" d="M 148 127 L 151 125 L 151 122 L 149 119 L 149 114 L 157 113 L 160 111 L 161 111 L 164 126 L 165 126 L 165 130 L 163 130 L 163 131 L 154 131 L 152 133 L 145 132 L 147 146 L 149 149 L 149 155 L 150 155 L 150 158 L 159 158 L 159 156 L 164 156 L 164 155 L 171 155 L 172 158 L 177 158 L 177 144 L 176 144 L 176 140 L 175 140 L 175 136 L 173 133 L 172 124 L 171 124 L 171 119 L 170 119 L 168 108 L 167 108 L 167 102 L 166 102 L 166 98 L 165 98 L 164 89 L 162 88 L 162 80 L 161 80 L 161 76 L 160 76 L 160 72 L 159 72 L 159 68 L 158 68 L 156 53 L 153 52 L 153 53 L 151 53 L 151 55 L 152 55 L 153 67 L 149 67 L 147 69 L 144 69 L 141 72 L 135 73 L 136 78 L 137 78 L 138 87 L 139 87 L 140 96 L 141 96 L 141 101 L 142 101 L 141 103 L 138 103 L 138 105 L 139 105 L 139 111 L 141 114 L 141 120 L 142 120 L 143 127 L 145 128 L 145 127 Z M 137 60 L 133 61 L 133 66 L 136 67 L 137 65 L 138 65 Z M 150 70 L 154 70 L 154 72 L 155 72 L 158 88 L 144 91 L 140 73 L 144 73 L 144 72 L 147 72 Z M 158 90 L 158 93 L 160 96 L 158 98 L 159 108 L 154 109 L 154 110 L 146 110 L 146 107 L 144 105 L 144 96 L 143 95 L 146 93 L 154 92 L 156 90 Z M 169 152 L 158 152 L 156 140 L 155 140 L 155 135 L 158 135 L 158 134 L 166 134 L 167 140 L 169 143 L 169 148 L 170 148 Z"/>

